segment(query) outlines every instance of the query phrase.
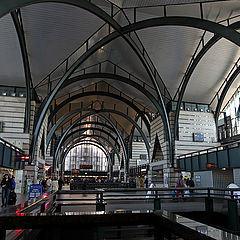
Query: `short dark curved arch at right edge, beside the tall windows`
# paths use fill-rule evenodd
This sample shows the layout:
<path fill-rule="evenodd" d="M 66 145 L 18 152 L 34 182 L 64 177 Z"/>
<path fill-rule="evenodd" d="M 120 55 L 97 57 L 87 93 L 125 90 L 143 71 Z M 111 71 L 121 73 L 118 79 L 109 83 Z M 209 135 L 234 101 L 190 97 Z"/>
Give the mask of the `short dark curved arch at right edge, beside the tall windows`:
<path fill-rule="evenodd" d="M 237 67 L 237 69 L 233 72 L 233 74 L 231 75 L 231 77 L 228 79 L 224 89 L 222 90 L 221 96 L 218 100 L 218 105 L 216 108 L 216 113 L 215 113 L 215 122 L 216 122 L 216 128 L 218 127 L 218 118 L 219 118 L 219 113 L 223 104 L 223 100 L 230 88 L 230 86 L 232 85 L 232 83 L 234 82 L 234 80 L 236 79 L 236 77 L 239 75 L 240 73 L 240 66 Z"/>

